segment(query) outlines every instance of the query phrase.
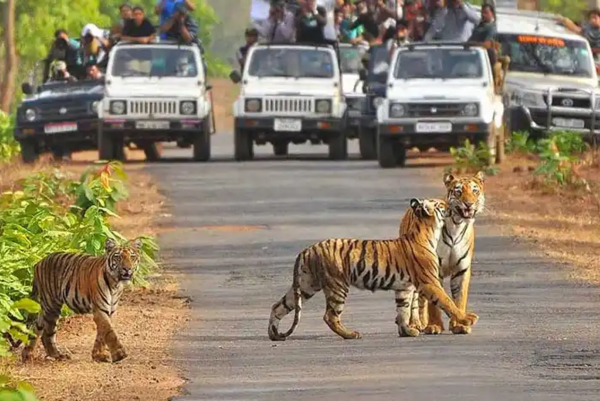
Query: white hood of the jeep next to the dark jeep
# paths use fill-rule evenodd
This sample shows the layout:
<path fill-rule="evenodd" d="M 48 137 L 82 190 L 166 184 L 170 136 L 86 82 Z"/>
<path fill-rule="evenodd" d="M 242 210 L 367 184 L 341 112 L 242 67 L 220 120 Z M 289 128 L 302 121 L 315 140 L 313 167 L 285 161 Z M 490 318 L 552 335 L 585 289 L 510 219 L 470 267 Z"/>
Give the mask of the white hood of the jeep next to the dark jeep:
<path fill-rule="evenodd" d="M 106 96 L 111 98 L 197 98 L 200 96 L 198 79 L 147 79 L 142 82 L 120 80 L 106 86 Z"/>

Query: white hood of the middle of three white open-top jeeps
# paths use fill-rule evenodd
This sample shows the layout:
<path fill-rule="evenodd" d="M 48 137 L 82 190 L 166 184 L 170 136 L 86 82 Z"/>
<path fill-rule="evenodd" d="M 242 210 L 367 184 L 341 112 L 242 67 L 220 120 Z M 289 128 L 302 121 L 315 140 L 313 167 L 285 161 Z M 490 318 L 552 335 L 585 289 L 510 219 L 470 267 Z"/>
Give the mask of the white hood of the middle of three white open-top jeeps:
<path fill-rule="evenodd" d="M 241 96 L 333 96 L 339 90 L 336 81 L 323 79 L 259 79 L 242 87 Z"/>

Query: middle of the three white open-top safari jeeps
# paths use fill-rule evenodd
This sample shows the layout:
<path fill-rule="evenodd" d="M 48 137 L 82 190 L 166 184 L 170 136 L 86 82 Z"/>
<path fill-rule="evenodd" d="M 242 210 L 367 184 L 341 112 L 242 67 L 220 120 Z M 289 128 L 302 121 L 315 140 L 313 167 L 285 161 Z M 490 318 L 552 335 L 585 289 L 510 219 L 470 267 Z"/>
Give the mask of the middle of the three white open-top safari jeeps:
<path fill-rule="evenodd" d="M 235 159 L 254 157 L 253 145 L 270 142 L 276 155 L 288 144 L 329 145 L 330 159 L 345 159 L 346 104 L 337 52 L 330 45 L 258 44 L 248 52 L 233 105 Z"/>

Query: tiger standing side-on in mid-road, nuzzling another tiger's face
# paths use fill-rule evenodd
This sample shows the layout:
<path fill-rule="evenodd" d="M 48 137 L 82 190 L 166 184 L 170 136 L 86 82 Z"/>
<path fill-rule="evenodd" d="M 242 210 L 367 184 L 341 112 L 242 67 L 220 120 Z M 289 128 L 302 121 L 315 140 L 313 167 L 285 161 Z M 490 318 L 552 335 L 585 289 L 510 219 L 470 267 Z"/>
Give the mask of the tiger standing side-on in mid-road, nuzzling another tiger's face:
<path fill-rule="evenodd" d="M 320 290 L 325 293 L 323 320 L 329 328 L 345 339 L 361 338 L 359 332 L 345 328 L 340 319 L 350 286 L 373 292 L 394 290 L 400 336 L 419 335 L 418 330 L 409 327 L 415 287 L 456 321 L 465 326 L 475 324 L 477 315 L 461 312 L 438 281 L 435 250 L 446 210 L 446 203 L 440 199 L 411 199 L 404 215 L 410 227 L 406 235 L 389 240 L 328 239 L 304 249 L 296 257 L 292 287 L 271 308 L 269 338 L 283 341 L 289 337 L 300 321 L 302 300 Z M 280 333 L 279 322 L 292 310 L 292 327 Z"/>

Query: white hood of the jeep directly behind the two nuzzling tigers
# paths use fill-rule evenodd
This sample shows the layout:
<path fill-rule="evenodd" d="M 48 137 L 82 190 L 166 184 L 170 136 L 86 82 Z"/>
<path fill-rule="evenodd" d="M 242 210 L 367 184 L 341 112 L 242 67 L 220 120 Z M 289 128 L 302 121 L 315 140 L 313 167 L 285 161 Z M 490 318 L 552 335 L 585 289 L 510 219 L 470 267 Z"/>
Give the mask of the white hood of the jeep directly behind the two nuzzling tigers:
<path fill-rule="evenodd" d="M 395 83 L 388 88 L 387 95 L 390 98 L 402 98 L 406 100 L 444 101 L 444 100 L 468 100 L 485 97 L 488 86 L 481 83 L 462 81 L 436 81 L 422 84 L 403 85 Z"/>

